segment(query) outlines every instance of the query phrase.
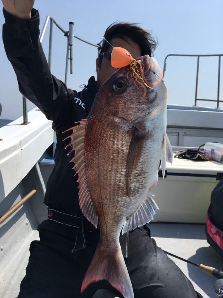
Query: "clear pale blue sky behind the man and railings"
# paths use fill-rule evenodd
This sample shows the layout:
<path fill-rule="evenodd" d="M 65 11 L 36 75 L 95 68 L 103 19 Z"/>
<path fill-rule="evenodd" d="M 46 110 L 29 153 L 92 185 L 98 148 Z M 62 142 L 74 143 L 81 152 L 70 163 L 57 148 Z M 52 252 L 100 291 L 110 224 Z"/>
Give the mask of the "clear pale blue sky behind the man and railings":
<path fill-rule="evenodd" d="M 0 2 L 2 9 L 3 5 Z M 40 30 L 48 15 L 66 31 L 74 22 L 74 34 L 93 44 L 102 40 L 105 29 L 115 21 L 138 23 L 157 38 L 154 57 L 163 69 L 168 54 L 223 54 L 223 0 L 35 0 L 40 13 Z M 0 12 L 0 24 L 4 23 Z M 0 102 L 1 118 L 22 115 L 22 96 L 16 75 L 4 52 L 0 30 Z M 48 57 L 49 26 L 43 39 Z M 53 28 L 52 74 L 64 81 L 67 40 Z M 97 48 L 74 38 L 73 71 L 68 88 L 80 91 L 90 76 L 96 76 Z M 167 104 L 194 105 L 196 58 L 168 57 L 165 72 Z M 223 66 L 223 58 L 221 58 Z M 198 98 L 217 99 L 218 58 L 201 58 Z M 220 76 L 220 100 L 223 100 L 223 67 Z M 215 103 L 199 102 L 215 107 Z M 33 104 L 28 104 L 32 109 Z M 223 103 L 220 104 L 223 108 Z"/>

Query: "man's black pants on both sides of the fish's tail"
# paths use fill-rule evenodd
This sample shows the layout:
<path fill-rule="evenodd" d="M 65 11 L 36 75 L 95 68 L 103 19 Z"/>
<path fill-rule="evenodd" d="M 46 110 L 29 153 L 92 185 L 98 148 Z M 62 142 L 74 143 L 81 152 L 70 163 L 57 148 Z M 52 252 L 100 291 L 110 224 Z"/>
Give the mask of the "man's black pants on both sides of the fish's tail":
<path fill-rule="evenodd" d="M 91 298 L 103 288 L 122 297 L 106 281 L 91 284 L 80 294 L 99 233 L 87 232 L 86 247 L 75 250 L 77 237 L 71 233 L 65 236 L 61 230 L 61 224 L 49 220 L 40 225 L 40 241 L 30 245 L 29 263 L 18 298 Z M 129 234 L 126 266 L 135 298 L 202 298 L 175 263 L 156 246 L 147 227 Z"/>

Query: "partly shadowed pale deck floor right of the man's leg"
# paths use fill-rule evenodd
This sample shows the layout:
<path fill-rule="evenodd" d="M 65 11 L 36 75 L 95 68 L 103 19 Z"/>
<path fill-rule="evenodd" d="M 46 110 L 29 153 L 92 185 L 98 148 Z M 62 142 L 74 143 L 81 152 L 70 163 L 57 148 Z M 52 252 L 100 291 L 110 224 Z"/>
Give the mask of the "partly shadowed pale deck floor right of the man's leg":
<path fill-rule="evenodd" d="M 206 241 L 204 224 L 151 223 L 151 236 L 157 246 L 196 264 L 220 269 L 223 259 Z M 198 267 L 169 256 L 191 280 L 194 288 L 204 298 L 217 298 L 213 290 L 216 278 Z"/>

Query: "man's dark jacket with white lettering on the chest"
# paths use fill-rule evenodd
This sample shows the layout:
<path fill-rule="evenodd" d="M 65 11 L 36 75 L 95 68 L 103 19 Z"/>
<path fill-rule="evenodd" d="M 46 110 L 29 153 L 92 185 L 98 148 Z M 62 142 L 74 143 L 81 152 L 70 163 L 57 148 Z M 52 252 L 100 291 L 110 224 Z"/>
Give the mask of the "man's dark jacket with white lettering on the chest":
<path fill-rule="evenodd" d="M 3 9 L 3 42 L 9 61 L 17 75 L 20 92 L 52 120 L 56 132 L 55 166 L 47 183 L 45 203 L 53 209 L 82 216 L 78 201 L 77 176 L 69 163 L 73 153 L 63 131 L 86 118 L 98 87 L 94 77 L 83 91 L 68 89 L 53 76 L 39 40 L 39 13 L 32 9 L 31 19 L 18 19 Z"/>

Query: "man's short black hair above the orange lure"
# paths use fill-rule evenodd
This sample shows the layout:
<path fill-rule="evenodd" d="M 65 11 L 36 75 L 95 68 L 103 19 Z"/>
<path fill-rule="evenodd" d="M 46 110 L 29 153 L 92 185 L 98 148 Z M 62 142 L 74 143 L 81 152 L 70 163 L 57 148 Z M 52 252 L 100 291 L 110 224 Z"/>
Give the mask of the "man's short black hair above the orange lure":
<path fill-rule="evenodd" d="M 111 43 L 112 38 L 119 37 L 126 40 L 126 37 L 134 41 L 139 45 L 141 49 L 141 56 L 149 55 L 152 56 L 158 42 L 155 40 L 152 35 L 139 27 L 135 23 L 113 23 L 111 24 L 105 31 L 104 38 Z M 106 52 L 110 45 L 109 43 L 103 39 L 100 52 L 99 52 L 99 64 L 102 61 L 103 56 L 100 53 Z"/>

